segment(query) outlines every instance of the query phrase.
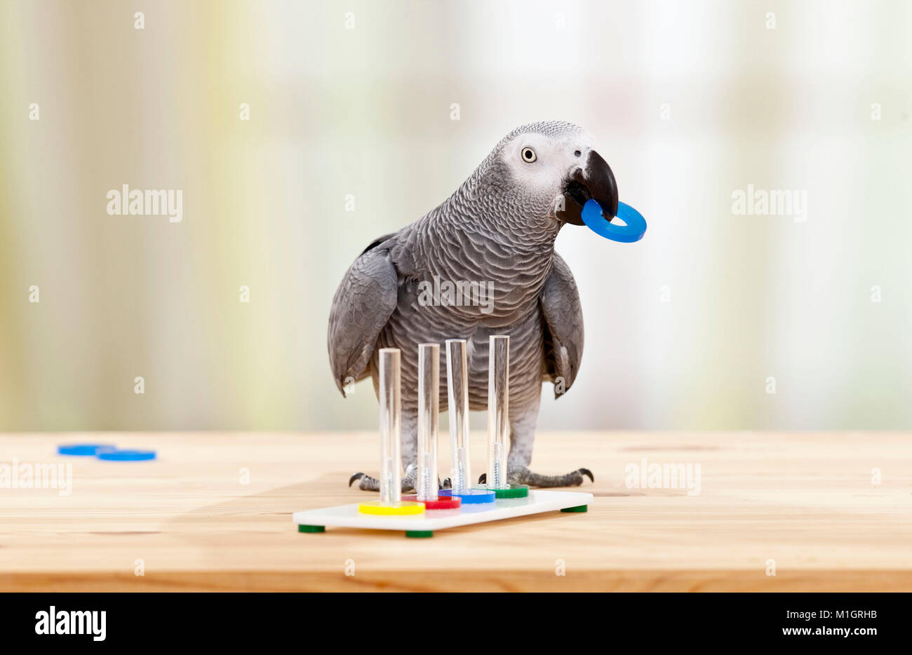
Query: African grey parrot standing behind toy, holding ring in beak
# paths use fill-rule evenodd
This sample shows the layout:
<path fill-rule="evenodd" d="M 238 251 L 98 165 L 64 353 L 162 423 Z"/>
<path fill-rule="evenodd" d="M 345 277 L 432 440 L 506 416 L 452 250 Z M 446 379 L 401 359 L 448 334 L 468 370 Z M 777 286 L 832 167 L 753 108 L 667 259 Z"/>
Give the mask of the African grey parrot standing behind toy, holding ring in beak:
<path fill-rule="evenodd" d="M 616 215 L 617 183 L 592 136 L 559 121 L 523 125 L 450 198 L 376 239 L 348 269 L 329 314 L 329 363 L 343 396 L 368 376 L 377 391 L 379 348 L 401 349 L 403 491 L 415 484 L 418 345 L 440 343 L 446 411 L 443 341 L 467 339 L 469 406 L 486 410 L 488 337 L 495 334 L 510 335 L 508 482 L 555 487 L 593 478 L 586 469 L 554 476 L 528 469 L 542 382 L 555 383 L 555 397 L 568 390 L 583 355 L 579 294 L 554 239 L 564 224 L 584 224 L 590 198 L 608 220 Z M 492 302 L 454 305 L 445 295 L 429 302 L 430 294 L 422 302 L 422 292 L 447 281 L 490 282 Z M 349 484 L 356 479 L 361 489 L 378 489 L 375 478 L 356 473 Z"/>

